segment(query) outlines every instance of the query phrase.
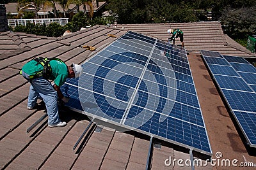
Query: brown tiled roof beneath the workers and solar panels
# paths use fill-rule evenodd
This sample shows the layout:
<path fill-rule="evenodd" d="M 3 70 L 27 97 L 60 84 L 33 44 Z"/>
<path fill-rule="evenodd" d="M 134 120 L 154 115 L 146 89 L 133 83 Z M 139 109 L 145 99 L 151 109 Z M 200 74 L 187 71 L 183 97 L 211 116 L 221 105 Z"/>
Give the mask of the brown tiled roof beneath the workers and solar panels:
<path fill-rule="evenodd" d="M 209 25 L 207 26 L 207 24 Z M 182 25 L 180 24 L 180 28 Z M 223 159 L 256 162 L 252 152 L 246 150 L 247 148 L 239 136 L 240 132 L 232 122 L 198 50 L 218 51 L 225 48 L 230 50 L 223 50 L 221 53 L 226 52 L 227 55 L 236 53 L 244 57 L 251 55 L 227 46 L 228 43 L 225 39 L 228 38 L 223 39 L 225 35 L 221 33 L 218 22 L 184 25 L 186 25 L 186 27 L 182 27 L 184 43 L 189 51 L 189 65 L 195 81 L 212 153 L 221 152 Z M 118 38 L 131 30 L 165 40 L 168 38 L 166 35 L 168 27 L 170 24 L 117 25 L 118 29 L 97 25 L 60 38 L 2 32 L 0 34 L 1 169 L 145 169 L 150 138 L 135 132 L 116 132 L 113 129 L 100 129 L 99 127 L 95 129 L 95 126 L 92 126 L 86 133 L 86 138 L 81 142 L 83 145 L 80 143 L 73 151 L 74 144 L 90 121 L 85 115 L 70 111 L 65 107 L 61 108 L 60 117 L 67 122 L 66 127 L 51 129 L 47 127 L 47 118 L 44 118 L 31 132 L 26 133 L 29 126 L 45 115 L 45 108 L 40 105 L 38 110 L 26 109 L 29 83 L 18 73 L 23 64 L 33 57 L 58 57 L 67 65 L 72 62 L 83 63 L 92 55 L 92 52 L 85 50 L 82 46 L 92 45 L 99 51 L 100 48 L 116 39 L 107 36 L 108 34 L 114 34 Z M 191 27 L 191 33 L 186 32 L 189 27 Z M 205 32 L 210 30 L 209 38 L 207 39 L 205 36 L 203 39 L 209 42 L 207 45 L 204 42 L 201 43 L 199 35 L 193 36 L 196 30 L 202 31 L 202 27 L 205 28 Z M 211 29 L 211 27 L 213 28 Z M 214 31 L 216 32 L 215 36 Z M 212 32 L 212 36 L 210 36 L 210 32 Z M 192 39 L 188 40 L 188 37 L 197 37 L 198 40 L 193 43 Z M 212 39 L 214 37 L 216 39 Z M 19 43 L 17 43 L 18 40 Z M 218 48 L 214 47 L 215 45 L 211 46 L 212 41 L 223 41 L 223 44 L 220 45 L 222 47 L 218 46 L 218 43 L 216 43 Z M 230 39 L 228 42 L 234 43 Z M 196 44 L 202 45 L 202 48 L 196 47 Z M 191 167 L 179 167 L 177 164 L 164 166 L 164 160 L 169 157 L 177 160 L 189 159 L 188 150 L 183 150 L 170 143 L 163 142 L 160 148 L 154 146 L 151 155 L 152 169 L 191 169 Z M 196 167 L 196 169 L 219 169 L 219 167 L 211 167 L 208 163 L 207 167 Z"/>

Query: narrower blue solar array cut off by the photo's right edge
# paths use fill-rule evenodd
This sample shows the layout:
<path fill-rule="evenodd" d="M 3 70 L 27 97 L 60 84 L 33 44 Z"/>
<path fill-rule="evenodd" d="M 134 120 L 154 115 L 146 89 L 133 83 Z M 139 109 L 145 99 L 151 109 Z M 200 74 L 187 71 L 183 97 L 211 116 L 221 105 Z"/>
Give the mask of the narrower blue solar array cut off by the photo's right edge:
<path fill-rule="evenodd" d="M 256 147 L 256 68 L 243 57 L 201 53 L 248 145 Z"/>

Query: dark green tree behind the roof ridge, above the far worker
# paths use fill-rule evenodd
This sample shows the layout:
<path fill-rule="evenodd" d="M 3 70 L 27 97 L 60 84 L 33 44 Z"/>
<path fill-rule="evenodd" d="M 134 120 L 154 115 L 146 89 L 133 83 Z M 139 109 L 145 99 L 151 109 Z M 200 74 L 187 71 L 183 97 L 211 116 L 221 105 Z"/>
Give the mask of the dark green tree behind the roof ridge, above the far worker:
<path fill-rule="evenodd" d="M 118 16 L 120 24 L 198 20 L 193 9 L 184 2 L 171 4 L 167 0 L 109 0 L 108 9 Z"/>

